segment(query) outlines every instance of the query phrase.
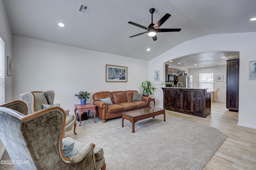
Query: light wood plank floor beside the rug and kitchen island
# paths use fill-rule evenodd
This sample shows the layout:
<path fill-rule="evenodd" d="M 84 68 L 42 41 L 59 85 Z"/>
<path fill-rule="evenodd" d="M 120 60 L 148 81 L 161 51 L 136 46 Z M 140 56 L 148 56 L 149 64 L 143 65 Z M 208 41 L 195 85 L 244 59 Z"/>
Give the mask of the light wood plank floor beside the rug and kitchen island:
<path fill-rule="evenodd" d="M 203 170 L 256 170 L 256 129 L 238 126 L 238 113 L 226 109 L 226 103 L 212 102 L 211 115 L 202 118 L 166 111 L 166 114 L 215 127 L 228 138 Z"/>

